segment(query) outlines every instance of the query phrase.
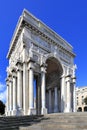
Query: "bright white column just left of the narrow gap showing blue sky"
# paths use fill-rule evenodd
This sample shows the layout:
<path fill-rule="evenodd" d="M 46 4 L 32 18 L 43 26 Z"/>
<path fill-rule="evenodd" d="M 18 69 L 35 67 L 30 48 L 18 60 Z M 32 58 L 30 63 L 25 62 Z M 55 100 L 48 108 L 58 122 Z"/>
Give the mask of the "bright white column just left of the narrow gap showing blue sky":
<path fill-rule="evenodd" d="M 28 69 L 29 69 L 29 115 L 36 114 L 34 108 L 34 60 L 30 58 L 28 60 Z"/>

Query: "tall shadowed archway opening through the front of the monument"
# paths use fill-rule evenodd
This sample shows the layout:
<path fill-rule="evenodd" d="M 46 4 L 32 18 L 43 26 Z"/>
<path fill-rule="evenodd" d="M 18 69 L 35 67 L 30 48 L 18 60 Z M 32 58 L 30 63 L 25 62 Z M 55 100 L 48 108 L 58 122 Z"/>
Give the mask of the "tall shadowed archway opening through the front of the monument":
<path fill-rule="evenodd" d="M 61 111 L 61 86 L 60 77 L 63 73 L 58 59 L 50 57 L 46 61 L 46 107 L 48 113 Z"/>

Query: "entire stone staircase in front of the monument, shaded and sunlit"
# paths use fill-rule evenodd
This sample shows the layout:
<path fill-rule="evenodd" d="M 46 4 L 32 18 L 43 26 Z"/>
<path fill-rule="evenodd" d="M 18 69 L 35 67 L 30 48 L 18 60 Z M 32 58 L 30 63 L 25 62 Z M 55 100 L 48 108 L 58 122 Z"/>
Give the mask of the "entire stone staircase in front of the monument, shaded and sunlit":
<path fill-rule="evenodd" d="M 87 113 L 0 117 L 0 130 L 87 130 Z"/>

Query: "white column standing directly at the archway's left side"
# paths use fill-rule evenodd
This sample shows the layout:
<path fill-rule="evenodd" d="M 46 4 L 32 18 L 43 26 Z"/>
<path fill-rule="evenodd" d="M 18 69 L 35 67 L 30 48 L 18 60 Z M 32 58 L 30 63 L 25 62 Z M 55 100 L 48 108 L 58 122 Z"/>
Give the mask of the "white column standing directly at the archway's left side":
<path fill-rule="evenodd" d="M 45 88 L 45 73 L 46 73 L 46 65 L 41 65 L 41 114 L 47 114 L 46 109 L 46 88 Z"/>

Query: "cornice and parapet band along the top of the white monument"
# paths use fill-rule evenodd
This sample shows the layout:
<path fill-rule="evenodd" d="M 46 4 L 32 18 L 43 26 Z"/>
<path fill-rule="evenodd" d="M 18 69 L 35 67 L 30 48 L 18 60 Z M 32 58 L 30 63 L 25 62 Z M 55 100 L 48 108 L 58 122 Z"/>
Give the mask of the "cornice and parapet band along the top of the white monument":
<path fill-rule="evenodd" d="M 34 22 L 36 22 L 36 23 L 34 23 Z M 15 48 L 16 42 L 19 38 L 20 33 L 22 32 L 23 27 L 28 27 L 32 31 L 35 31 L 38 35 L 40 35 L 41 37 L 48 40 L 49 43 L 52 43 L 52 44 L 59 46 L 59 48 L 65 50 L 70 55 L 75 57 L 75 54 L 72 52 L 73 48 L 68 42 L 66 42 L 56 32 L 54 32 L 47 25 L 45 25 L 43 22 L 38 20 L 36 17 L 34 17 L 32 14 L 30 14 L 27 10 L 24 9 L 22 16 L 18 20 L 16 29 L 14 31 L 14 34 L 13 34 L 13 37 L 12 37 L 12 40 L 11 40 L 11 43 L 10 43 L 10 48 L 9 48 L 9 51 L 8 51 L 8 54 L 7 54 L 8 59 L 10 58 L 12 51 Z M 48 34 L 46 33 L 46 31 L 44 31 L 44 29 L 49 34 L 51 34 L 51 36 L 48 36 Z M 65 45 L 65 46 L 69 46 L 69 48 L 71 48 L 71 50 L 63 47 L 63 45 L 62 44 L 60 45 L 60 43 L 63 43 L 63 45 Z"/>

